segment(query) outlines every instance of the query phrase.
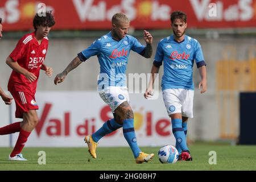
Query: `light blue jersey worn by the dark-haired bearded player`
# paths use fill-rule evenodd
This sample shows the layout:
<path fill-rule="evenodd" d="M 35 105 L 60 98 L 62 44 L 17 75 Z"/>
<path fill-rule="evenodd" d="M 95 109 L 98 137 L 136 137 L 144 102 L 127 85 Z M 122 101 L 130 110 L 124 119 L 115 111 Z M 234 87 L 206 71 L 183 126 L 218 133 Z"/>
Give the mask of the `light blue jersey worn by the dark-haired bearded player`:
<path fill-rule="evenodd" d="M 197 67 L 205 65 L 199 42 L 187 35 L 183 42 L 176 42 L 174 36 L 160 40 L 156 49 L 154 65 L 164 64 L 162 90 L 194 89 L 193 64 Z"/>

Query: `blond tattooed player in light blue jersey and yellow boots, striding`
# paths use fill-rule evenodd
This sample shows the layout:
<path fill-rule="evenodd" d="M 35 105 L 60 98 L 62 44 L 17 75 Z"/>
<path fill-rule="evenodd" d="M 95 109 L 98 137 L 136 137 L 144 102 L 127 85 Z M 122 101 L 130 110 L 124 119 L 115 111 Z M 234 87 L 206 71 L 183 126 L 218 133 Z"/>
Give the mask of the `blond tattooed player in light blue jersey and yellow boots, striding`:
<path fill-rule="evenodd" d="M 65 76 L 82 62 L 92 56 L 98 57 L 100 75 L 98 77 L 98 92 L 112 109 L 114 118 L 106 121 L 96 133 L 86 136 L 89 152 L 96 159 L 97 142 L 102 137 L 123 127 L 123 135 L 131 150 L 136 163 L 148 162 L 154 154 L 146 154 L 140 150 L 134 131 L 134 115 L 129 105 L 129 94 L 126 87 L 126 67 L 130 51 L 150 58 L 152 55 L 152 36 L 144 30 L 143 36 L 146 47 L 133 36 L 127 35 L 130 20 L 125 14 L 117 13 L 112 17 L 112 30 L 92 45 L 80 52 L 68 67 L 55 77 L 55 84 L 64 81 Z"/>

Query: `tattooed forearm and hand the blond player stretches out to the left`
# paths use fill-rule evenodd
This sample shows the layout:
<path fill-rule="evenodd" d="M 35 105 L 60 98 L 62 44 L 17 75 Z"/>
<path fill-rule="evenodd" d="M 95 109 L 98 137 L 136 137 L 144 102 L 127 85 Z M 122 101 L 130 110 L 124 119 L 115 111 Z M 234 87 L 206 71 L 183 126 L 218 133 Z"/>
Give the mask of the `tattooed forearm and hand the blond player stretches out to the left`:
<path fill-rule="evenodd" d="M 61 82 L 64 81 L 65 77 L 68 75 L 69 72 L 71 72 L 73 69 L 75 69 L 76 67 L 78 67 L 80 64 L 82 63 L 82 61 L 79 59 L 79 57 L 75 57 L 75 59 L 73 59 L 71 61 L 71 63 L 69 63 L 69 65 L 67 66 L 66 69 L 64 69 L 64 71 L 62 73 L 59 73 L 55 79 L 54 79 L 54 84 L 60 84 Z"/>

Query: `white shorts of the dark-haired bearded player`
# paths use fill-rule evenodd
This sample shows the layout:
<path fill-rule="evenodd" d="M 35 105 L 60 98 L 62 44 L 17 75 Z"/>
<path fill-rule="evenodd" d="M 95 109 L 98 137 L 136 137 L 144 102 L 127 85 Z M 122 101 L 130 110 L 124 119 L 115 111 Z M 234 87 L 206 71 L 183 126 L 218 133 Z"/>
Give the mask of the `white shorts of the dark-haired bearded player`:
<path fill-rule="evenodd" d="M 163 90 L 164 105 L 168 115 L 181 113 L 183 117 L 193 118 L 194 90 L 166 89 Z"/>

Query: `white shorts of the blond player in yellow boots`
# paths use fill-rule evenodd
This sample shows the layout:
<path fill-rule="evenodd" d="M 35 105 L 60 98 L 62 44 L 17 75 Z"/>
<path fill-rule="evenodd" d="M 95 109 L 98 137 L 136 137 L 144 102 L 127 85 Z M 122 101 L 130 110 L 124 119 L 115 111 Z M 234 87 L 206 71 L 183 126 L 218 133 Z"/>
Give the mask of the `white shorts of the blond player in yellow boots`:
<path fill-rule="evenodd" d="M 104 102 L 110 106 L 113 113 L 114 110 L 117 109 L 117 107 L 123 102 L 130 102 L 127 87 L 109 86 L 98 93 L 100 94 L 102 100 L 104 100 Z"/>

